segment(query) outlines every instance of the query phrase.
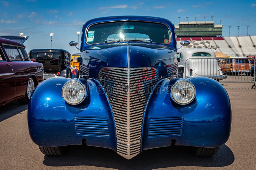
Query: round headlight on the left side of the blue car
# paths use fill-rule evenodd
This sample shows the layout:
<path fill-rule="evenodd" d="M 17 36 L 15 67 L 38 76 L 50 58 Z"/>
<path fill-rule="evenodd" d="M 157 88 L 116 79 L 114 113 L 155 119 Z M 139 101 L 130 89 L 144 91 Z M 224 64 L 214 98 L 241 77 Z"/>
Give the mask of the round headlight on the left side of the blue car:
<path fill-rule="evenodd" d="M 78 81 L 68 81 L 62 88 L 62 97 L 69 104 L 79 104 L 83 102 L 86 89 Z"/>

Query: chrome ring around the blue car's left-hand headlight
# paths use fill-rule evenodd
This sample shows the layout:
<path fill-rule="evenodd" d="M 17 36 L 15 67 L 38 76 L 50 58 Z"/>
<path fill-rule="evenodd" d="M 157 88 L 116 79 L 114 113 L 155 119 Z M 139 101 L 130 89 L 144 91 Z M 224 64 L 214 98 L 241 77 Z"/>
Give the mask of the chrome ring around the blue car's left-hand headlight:
<path fill-rule="evenodd" d="M 67 86 L 68 86 L 68 84 L 70 84 L 70 83 L 77 83 L 81 88 L 82 88 L 82 91 L 83 91 L 83 97 L 79 100 L 79 101 L 77 101 L 77 102 L 70 102 L 65 96 L 64 96 L 64 94 L 63 94 L 63 90 L 64 90 L 64 88 L 66 88 Z M 84 100 L 85 100 L 85 98 L 87 97 L 87 93 L 88 93 L 88 89 L 87 89 L 87 87 L 86 87 L 86 84 L 83 84 L 80 80 L 70 80 L 70 81 L 67 81 L 64 85 L 63 85 L 63 87 L 62 87 L 62 89 L 61 89 L 61 96 L 62 96 L 62 98 L 64 99 L 64 101 L 66 102 L 66 103 L 68 103 L 68 104 L 71 104 L 71 105 L 78 105 L 78 104 L 80 104 L 80 103 L 83 103 L 84 102 Z"/>

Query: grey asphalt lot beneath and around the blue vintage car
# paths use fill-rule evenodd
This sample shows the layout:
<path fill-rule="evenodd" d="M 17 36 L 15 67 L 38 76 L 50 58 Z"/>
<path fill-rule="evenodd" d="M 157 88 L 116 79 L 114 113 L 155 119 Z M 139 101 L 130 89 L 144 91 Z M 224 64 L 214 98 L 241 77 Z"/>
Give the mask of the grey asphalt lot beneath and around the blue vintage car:
<path fill-rule="evenodd" d="M 98 147 L 71 146 L 61 157 L 44 156 L 28 134 L 27 105 L 0 107 L 0 169 L 255 169 L 256 90 L 252 83 L 223 83 L 232 105 L 228 142 L 210 158 L 186 146 L 143 151 L 133 159 Z"/>

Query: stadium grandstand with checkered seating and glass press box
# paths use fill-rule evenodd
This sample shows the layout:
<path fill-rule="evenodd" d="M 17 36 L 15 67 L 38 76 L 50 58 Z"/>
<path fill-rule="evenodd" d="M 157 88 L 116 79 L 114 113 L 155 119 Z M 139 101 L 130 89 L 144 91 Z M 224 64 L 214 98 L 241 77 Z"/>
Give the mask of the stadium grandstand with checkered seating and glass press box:
<path fill-rule="evenodd" d="M 175 30 L 178 47 L 187 40 L 190 45 L 185 48 L 210 48 L 232 57 L 256 56 L 256 36 L 222 37 L 222 25 L 214 21 L 179 22 Z"/>

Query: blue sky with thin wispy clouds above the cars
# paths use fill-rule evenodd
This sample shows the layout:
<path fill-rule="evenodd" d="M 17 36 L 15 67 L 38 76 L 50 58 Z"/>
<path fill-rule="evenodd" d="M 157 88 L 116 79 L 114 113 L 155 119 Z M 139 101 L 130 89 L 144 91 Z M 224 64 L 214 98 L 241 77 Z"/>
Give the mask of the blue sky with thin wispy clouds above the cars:
<path fill-rule="evenodd" d="M 56 0 L 0 0 L 0 35 L 29 36 L 25 42 L 27 51 L 34 48 L 51 48 L 50 32 L 53 32 L 53 48 L 62 48 L 70 53 L 77 53 L 69 46 L 71 40 L 78 41 L 77 31 L 82 31 L 83 24 L 92 18 L 116 15 L 144 15 L 167 18 L 178 24 L 188 20 L 211 21 L 223 24 L 223 36 L 256 35 L 255 0 L 94 0 L 94 1 L 56 1 Z M 80 36 L 81 37 L 81 36 Z"/>

